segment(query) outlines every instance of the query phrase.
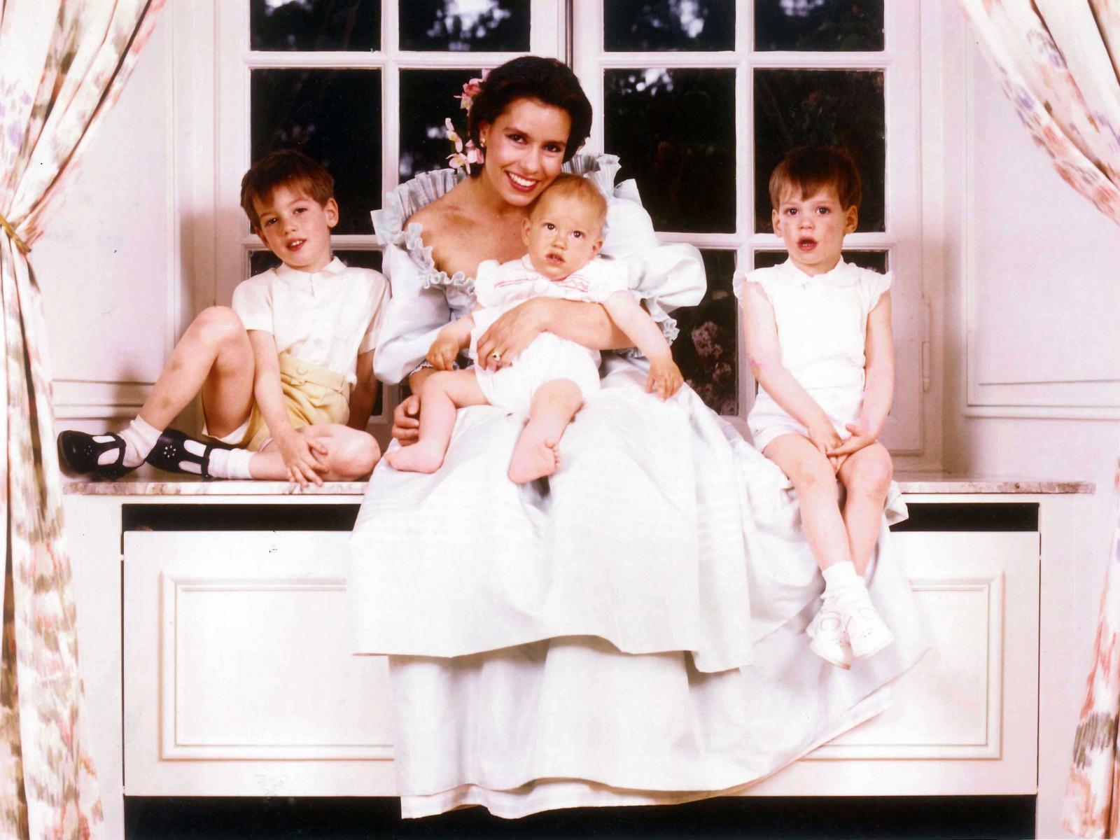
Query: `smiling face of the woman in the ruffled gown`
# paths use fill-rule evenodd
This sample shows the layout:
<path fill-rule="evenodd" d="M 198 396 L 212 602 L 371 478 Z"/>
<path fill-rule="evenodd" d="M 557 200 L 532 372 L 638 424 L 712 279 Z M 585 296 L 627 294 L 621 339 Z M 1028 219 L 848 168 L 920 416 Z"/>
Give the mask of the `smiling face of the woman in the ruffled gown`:
<path fill-rule="evenodd" d="M 560 174 L 571 119 L 540 100 L 511 102 L 492 123 L 483 123 L 486 149 L 482 177 L 507 204 L 524 207 Z"/>

